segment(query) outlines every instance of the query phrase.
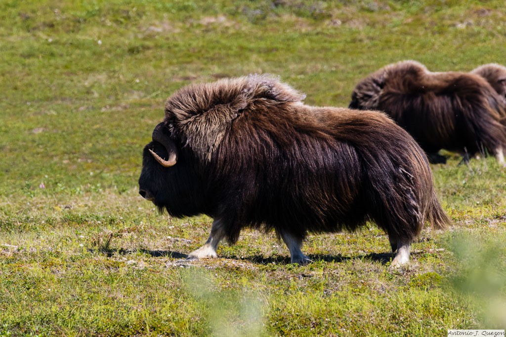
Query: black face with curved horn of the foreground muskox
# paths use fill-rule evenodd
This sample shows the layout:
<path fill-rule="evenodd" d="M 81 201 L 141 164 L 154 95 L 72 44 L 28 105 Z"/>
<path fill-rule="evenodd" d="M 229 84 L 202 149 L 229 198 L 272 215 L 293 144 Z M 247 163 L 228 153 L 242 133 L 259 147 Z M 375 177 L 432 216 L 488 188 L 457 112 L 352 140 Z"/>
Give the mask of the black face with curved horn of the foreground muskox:
<path fill-rule="evenodd" d="M 139 194 L 160 212 L 166 209 L 176 217 L 203 212 L 200 209 L 201 184 L 188 157 L 166 126 L 158 124 L 153 131 L 153 141 L 143 151 Z"/>

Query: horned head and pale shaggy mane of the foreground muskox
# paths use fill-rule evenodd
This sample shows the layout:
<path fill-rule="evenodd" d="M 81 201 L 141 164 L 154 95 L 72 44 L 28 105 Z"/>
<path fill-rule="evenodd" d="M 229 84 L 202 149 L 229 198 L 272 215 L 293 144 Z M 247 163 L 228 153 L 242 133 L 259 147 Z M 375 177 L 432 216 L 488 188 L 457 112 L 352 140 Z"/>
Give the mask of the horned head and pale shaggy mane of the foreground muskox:
<path fill-rule="evenodd" d="M 139 193 L 175 217 L 213 216 L 218 212 L 213 191 L 221 185 L 213 177 L 229 164 L 217 166 L 217 149 L 231 125 L 258 105 L 297 103 L 304 97 L 269 75 L 181 88 L 167 100 L 164 120 L 144 148 Z"/>

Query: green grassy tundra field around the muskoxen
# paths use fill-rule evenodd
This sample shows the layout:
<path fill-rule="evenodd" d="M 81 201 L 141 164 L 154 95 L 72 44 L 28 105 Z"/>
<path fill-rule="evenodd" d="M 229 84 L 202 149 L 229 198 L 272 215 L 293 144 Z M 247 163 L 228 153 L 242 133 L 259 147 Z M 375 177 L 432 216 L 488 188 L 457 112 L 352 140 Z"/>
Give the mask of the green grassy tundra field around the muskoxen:
<path fill-rule="evenodd" d="M 446 232 L 408 268 L 387 236 L 312 235 L 289 263 L 244 231 L 181 262 L 212 219 L 138 195 L 163 104 L 192 83 L 273 73 L 305 102 L 347 106 L 386 64 L 504 64 L 504 2 L 63 0 L 0 2 L 0 336 L 442 336 L 506 327 L 506 169 L 433 166 Z"/>

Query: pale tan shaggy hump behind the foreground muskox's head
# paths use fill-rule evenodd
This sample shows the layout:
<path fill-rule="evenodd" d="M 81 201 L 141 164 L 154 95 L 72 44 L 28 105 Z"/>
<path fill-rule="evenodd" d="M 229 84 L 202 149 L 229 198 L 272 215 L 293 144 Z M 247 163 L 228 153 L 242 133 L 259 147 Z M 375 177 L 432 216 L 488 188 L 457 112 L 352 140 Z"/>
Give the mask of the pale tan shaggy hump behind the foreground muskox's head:
<path fill-rule="evenodd" d="M 165 122 L 198 156 L 210 160 L 241 114 L 265 102 L 297 103 L 305 97 L 272 75 L 225 78 L 174 93 L 165 104 Z"/>

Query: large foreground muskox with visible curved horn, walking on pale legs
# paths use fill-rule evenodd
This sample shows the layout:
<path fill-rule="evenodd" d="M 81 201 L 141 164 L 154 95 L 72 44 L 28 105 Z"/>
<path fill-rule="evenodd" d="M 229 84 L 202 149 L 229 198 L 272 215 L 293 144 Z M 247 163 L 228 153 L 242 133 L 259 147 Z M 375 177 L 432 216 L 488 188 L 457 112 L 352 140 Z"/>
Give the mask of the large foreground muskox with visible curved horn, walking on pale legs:
<path fill-rule="evenodd" d="M 308 232 L 372 220 L 400 266 L 426 221 L 445 227 L 427 158 L 405 130 L 378 112 L 302 99 L 266 75 L 190 85 L 168 99 L 144 148 L 139 192 L 160 212 L 214 218 L 190 259 L 216 257 L 223 238 L 233 244 L 252 227 L 274 229 L 302 264 Z"/>

